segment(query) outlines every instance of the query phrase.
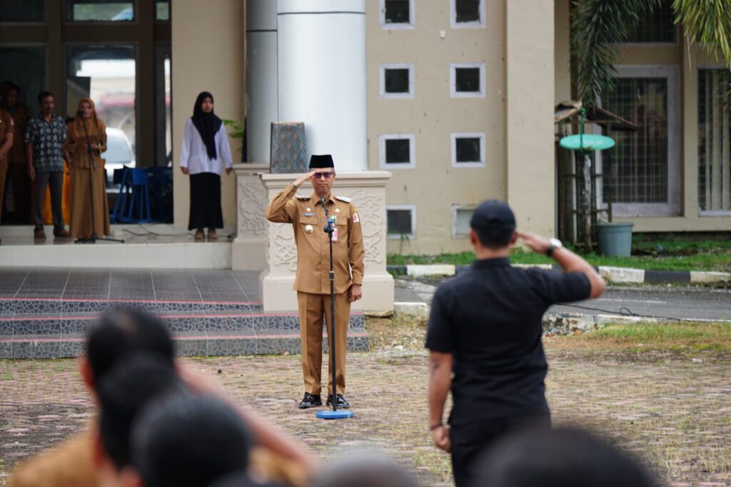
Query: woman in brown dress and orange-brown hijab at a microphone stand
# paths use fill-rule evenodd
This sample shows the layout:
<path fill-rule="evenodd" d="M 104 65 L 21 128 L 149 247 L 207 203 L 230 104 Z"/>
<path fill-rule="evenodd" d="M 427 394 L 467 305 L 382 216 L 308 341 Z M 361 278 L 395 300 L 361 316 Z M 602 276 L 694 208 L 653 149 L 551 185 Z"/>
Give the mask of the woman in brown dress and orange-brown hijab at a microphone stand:
<path fill-rule="evenodd" d="M 87 144 L 91 147 L 94 168 L 89 162 Z M 102 152 L 107 150 L 107 127 L 96 118 L 96 109 L 91 98 L 84 97 L 80 100 L 77 115 L 69 124 L 65 147 L 71 162 L 71 236 L 91 238 L 90 178 L 94 186 L 94 231 L 96 236 L 109 235 L 109 203 L 104 159 L 101 157 Z"/>

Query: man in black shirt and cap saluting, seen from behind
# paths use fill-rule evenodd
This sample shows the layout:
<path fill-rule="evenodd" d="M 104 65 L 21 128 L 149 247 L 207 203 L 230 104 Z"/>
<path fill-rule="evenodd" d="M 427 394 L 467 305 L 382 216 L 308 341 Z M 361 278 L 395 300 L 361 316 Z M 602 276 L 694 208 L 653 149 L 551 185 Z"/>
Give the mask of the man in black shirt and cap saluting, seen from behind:
<path fill-rule="evenodd" d="M 436 290 L 426 337 L 429 427 L 434 445 L 452 453 L 458 487 L 472 483 L 476 457 L 507 431 L 550 426 L 543 314 L 554 303 L 598 298 L 605 290 L 602 276 L 560 241 L 515 230 L 515 216 L 501 201 L 478 206 L 470 227 L 477 260 Z M 564 272 L 512 267 L 508 255 L 518 238 Z"/>

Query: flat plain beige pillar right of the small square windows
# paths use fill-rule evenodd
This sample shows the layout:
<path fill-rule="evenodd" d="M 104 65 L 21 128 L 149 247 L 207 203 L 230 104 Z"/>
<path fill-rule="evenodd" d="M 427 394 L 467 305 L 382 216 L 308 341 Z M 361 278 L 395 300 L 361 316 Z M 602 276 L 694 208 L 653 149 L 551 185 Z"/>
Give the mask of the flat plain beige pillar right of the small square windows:
<path fill-rule="evenodd" d="M 505 0 L 507 203 L 518 227 L 553 235 L 553 0 Z"/>

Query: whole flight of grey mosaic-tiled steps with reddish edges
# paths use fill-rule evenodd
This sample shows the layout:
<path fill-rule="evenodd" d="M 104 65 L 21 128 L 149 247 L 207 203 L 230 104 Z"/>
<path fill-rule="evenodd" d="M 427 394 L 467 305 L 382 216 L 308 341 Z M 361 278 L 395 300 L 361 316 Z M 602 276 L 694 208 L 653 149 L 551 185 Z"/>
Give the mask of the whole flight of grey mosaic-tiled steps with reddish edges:
<path fill-rule="evenodd" d="M 298 314 L 264 313 L 259 302 L 0 298 L 0 359 L 75 357 L 88 326 L 115 307 L 158 315 L 180 355 L 300 352 Z M 348 328 L 348 349 L 368 350 L 363 313 Z"/>

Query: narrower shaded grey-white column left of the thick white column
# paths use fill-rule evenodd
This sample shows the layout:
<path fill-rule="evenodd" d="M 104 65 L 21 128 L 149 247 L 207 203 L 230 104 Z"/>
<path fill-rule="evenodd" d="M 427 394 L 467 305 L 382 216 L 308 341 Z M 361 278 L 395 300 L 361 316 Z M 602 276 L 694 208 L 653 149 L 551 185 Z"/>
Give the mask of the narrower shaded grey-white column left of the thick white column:
<path fill-rule="evenodd" d="M 249 162 L 269 164 L 277 115 L 276 1 L 246 1 L 246 144 Z"/>

